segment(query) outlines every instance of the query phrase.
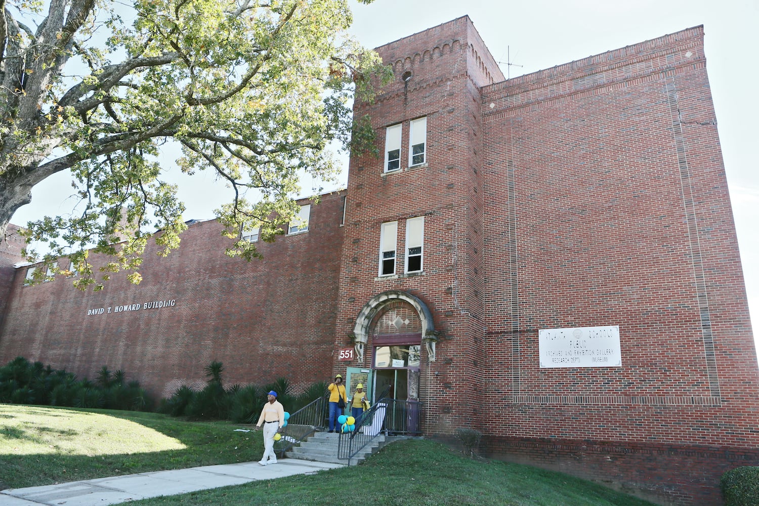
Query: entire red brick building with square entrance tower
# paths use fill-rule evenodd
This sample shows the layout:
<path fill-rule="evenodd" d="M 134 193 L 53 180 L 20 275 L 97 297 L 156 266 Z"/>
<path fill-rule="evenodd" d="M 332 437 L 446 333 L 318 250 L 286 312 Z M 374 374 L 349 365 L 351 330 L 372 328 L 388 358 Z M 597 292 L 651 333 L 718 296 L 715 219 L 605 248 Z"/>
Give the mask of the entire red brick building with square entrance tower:
<path fill-rule="evenodd" d="M 347 370 L 421 401 L 426 435 L 721 504 L 722 473 L 759 464 L 759 369 L 702 27 L 510 80 L 468 17 L 377 51 L 395 80 L 354 111 L 383 155 L 307 231 L 248 264 L 197 223 L 94 294 L 17 269 L 0 361 L 163 395 L 211 360 L 241 383 Z"/>

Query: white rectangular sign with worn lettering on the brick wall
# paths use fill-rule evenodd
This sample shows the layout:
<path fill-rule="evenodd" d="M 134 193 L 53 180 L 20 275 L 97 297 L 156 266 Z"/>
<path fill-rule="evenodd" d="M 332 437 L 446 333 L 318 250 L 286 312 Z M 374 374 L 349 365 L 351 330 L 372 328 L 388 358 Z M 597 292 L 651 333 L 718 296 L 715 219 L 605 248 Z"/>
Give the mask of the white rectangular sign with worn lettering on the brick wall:
<path fill-rule="evenodd" d="M 540 367 L 621 367 L 619 325 L 541 328 Z"/>

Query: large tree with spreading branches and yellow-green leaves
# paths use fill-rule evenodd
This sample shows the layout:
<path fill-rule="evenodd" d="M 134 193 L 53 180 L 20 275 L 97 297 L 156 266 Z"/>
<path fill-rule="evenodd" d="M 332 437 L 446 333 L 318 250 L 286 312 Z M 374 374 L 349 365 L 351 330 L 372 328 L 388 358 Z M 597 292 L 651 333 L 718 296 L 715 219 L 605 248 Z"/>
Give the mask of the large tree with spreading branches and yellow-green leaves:
<path fill-rule="evenodd" d="M 181 145 L 183 171 L 228 182 L 229 237 L 258 226 L 272 240 L 297 212 L 299 174 L 335 176 L 326 146 L 351 143 L 351 93 L 370 98 L 370 75 L 387 76 L 346 35 L 347 0 L 34 1 L 0 0 L 0 241 L 32 188 L 70 170 L 75 214 L 27 234 L 49 244 L 49 264 L 71 258 L 58 270 L 78 271 L 79 288 L 119 270 L 139 282 L 150 237 L 178 247 L 164 143 Z M 369 138 L 355 123 L 352 142 Z M 89 251 L 113 261 L 96 274 Z M 228 254 L 257 251 L 238 239 Z"/>

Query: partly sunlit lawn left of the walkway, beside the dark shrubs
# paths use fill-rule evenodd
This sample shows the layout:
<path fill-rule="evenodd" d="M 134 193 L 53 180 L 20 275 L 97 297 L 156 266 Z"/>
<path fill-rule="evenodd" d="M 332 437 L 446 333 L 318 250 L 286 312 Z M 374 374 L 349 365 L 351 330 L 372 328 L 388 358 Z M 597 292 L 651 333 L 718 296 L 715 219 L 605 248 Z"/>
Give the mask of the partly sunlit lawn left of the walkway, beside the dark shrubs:
<path fill-rule="evenodd" d="M 262 438 L 235 432 L 241 427 L 158 413 L 0 404 L 0 490 L 260 459 Z"/>

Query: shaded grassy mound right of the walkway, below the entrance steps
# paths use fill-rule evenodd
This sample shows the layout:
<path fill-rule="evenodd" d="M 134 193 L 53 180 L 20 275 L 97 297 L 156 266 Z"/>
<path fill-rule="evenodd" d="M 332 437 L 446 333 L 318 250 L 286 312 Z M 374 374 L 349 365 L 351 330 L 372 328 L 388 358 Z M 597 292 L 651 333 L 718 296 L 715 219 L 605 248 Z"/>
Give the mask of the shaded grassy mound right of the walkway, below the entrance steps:
<path fill-rule="evenodd" d="M 561 473 L 496 460 L 472 460 L 437 442 L 407 440 L 386 446 L 359 466 L 131 504 L 643 506 L 651 503 Z"/>

